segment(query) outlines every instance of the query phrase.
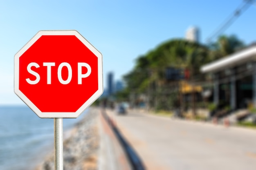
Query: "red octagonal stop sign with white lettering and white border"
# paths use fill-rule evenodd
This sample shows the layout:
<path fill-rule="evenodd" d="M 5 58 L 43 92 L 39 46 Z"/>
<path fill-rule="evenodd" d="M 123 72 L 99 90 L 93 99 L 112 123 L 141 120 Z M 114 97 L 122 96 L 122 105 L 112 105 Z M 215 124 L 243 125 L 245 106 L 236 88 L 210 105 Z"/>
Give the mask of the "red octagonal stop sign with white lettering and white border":
<path fill-rule="evenodd" d="M 76 118 L 103 93 L 102 55 L 77 31 L 39 31 L 14 56 L 14 92 L 41 118 Z"/>

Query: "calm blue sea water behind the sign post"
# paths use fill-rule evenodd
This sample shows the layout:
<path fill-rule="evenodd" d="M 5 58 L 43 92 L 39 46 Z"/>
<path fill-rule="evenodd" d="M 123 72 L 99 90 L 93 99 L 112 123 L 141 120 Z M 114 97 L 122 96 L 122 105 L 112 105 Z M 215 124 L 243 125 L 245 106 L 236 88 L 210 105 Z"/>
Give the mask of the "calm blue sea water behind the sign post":
<path fill-rule="evenodd" d="M 63 119 L 64 133 L 81 120 Z M 39 118 L 28 106 L 0 106 L 0 170 L 33 170 L 54 152 L 54 119 Z"/>

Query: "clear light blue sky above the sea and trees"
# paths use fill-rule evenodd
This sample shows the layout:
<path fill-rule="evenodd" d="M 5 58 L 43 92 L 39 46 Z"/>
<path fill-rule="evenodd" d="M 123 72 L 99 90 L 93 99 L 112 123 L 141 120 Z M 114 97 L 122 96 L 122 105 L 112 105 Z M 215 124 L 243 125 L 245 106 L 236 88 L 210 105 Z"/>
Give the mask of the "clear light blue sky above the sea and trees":
<path fill-rule="evenodd" d="M 0 1 L 0 104 L 22 104 L 13 93 L 13 57 L 40 30 L 77 30 L 103 54 L 103 74 L 121 79 L 139 55 L 172 38 L 184 38 L 189 26 L 201 30 L 201 42 L 243 0 L 23 0 Z M 252 5 L 224 34 L 246 44 L 256 41 Z"/>

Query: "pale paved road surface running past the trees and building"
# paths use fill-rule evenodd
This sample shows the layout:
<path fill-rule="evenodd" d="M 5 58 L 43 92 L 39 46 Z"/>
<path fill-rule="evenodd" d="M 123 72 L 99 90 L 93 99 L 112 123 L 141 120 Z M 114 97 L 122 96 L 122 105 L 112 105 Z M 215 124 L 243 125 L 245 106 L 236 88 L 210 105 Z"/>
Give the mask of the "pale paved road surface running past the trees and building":
<path fill-rule="evenodd" d="M 147 170 L 254 170 L 256 130 L 157 117 L 107 113 Z"/>

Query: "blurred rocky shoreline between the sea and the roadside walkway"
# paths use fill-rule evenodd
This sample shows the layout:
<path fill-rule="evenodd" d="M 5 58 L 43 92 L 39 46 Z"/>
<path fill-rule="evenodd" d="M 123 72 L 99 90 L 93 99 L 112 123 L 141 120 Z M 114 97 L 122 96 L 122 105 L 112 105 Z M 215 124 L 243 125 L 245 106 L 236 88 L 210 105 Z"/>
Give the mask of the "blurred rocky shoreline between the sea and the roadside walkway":
<path fill-rule="evenodd" d="M 63 141 L 64 170 L 97 170 L 99 152 L 99 110 L 90 108 Z M 65 132 L 64 132 L 65 133 Z M 54 170 L 54 152 L 35 170 Z"/>

